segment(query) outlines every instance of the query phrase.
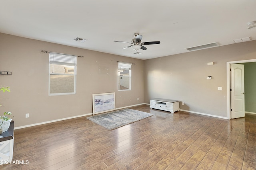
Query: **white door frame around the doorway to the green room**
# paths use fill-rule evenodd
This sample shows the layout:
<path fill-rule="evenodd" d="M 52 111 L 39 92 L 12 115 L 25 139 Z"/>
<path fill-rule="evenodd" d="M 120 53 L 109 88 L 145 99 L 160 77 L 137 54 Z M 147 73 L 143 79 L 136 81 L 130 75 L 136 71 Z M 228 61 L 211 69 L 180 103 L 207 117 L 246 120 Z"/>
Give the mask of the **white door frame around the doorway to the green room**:
<path fill-rule="evenodd" d="M 227 62 L 227 106 L 228 106 L 228 110 L 227 110 L 227 118 L 231 119 L 231 98 L 230 98 L 230 88 L 231 88 L 231 84 L 230 84 L 230 64 L 239 64 L 239 63 L 252 63 L 252 62 L 256 62 L 256 59 L 250 59 L 250 60 L 240 60 L 240 61 L 228 61 Z"/>

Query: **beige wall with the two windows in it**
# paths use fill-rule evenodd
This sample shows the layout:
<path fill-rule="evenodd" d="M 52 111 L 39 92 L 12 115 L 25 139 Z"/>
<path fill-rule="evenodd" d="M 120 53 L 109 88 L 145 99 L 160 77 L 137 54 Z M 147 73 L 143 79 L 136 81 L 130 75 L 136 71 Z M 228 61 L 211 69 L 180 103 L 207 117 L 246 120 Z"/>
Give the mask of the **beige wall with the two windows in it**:
<path fill-rule="evenodd" d="M 49 54 L 41 50 L 84 56 L 77 60 L 76 95 L 48 96 Z M 131 91 L 118 92 L 116 61 L 135 63 Z M 115 92 L 116 108 L 144 103 L 144 61 L 139 59 L 0 33 L 0 70 L 12 72 L 0 75 L 0 85 L 11 88 L 0 94 L 0 111 L 13 113 L 15 127 L 92 113 L 94 93 Z"/>

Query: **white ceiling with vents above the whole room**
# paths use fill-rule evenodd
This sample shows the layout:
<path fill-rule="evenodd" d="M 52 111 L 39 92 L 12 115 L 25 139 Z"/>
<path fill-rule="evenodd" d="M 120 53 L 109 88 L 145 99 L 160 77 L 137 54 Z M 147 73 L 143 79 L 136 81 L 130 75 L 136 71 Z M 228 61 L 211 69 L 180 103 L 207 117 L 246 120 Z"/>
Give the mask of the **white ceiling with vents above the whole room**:
<path fill-rule="evenodd" d="M 256 21 L 255 8 L 255 0 L 1 0 L 0 32 L 144 60 L 256 40 L 256 28 L 247 29 Z M 129 44 L 114 42 L 131 42 L 134 33 L 142 42 L 161 43 L 144 45 L 148 49 L 136 55 L 122 50 Z"/>

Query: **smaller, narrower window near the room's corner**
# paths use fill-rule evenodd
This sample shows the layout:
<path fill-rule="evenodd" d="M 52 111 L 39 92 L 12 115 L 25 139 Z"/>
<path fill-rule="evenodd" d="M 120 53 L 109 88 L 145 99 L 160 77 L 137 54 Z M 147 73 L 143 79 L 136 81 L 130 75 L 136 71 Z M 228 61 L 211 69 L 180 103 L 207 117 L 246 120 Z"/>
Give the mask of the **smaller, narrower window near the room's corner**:
<path fill-rule="evenodd" d="M 118 62 L 118 90 L 131 90 L 132 64 Z"/>

